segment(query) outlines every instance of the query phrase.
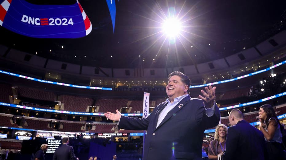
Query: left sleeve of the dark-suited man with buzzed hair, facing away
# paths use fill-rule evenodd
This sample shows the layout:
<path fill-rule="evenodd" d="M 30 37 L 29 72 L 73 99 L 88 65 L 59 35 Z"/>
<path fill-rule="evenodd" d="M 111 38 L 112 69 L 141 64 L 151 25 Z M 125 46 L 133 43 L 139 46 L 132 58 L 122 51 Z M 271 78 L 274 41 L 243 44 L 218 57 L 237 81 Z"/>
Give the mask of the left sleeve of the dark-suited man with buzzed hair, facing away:
<path fill-rule="evenodd" d="M 238 134 L 239 133 L 237 133 L 234 127 L 229 127 L 226 137 L 226 151 L 225 154 L 223 155 L 223 160 L 234 159 L 233 156 L 235 156 L 239 142 Z"/>

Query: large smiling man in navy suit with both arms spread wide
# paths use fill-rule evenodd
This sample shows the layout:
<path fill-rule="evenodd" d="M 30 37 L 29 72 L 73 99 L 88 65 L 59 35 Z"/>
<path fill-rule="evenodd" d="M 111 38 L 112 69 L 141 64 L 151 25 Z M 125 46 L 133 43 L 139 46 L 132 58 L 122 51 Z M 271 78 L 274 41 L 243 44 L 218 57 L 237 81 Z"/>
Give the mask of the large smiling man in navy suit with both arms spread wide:
<path fill-rule="evenodd" d="M 216 87 L 201 90 L 200 99 L 190 98 L 190 79 L 181 72 L 168 76 L 168 99 L 156 106 L 147 118 L 133 118 L 116 113 L 105 117 L 119 121 L 119 128 L 147 130 L 143 160 L 202 159 L 202 138 L 206 128 L 216 126 L 220 111 L 215 105 Z M 202 99 L 202 100 L 201 100 Z"/>

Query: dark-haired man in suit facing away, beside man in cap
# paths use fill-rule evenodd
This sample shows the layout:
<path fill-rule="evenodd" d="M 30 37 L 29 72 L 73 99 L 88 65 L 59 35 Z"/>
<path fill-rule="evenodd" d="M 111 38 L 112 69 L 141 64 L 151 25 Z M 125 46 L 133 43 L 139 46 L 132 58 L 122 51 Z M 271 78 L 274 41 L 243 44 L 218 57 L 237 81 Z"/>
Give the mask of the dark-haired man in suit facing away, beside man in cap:
<path fill-rule="evenodd" d="M 53 160 L 78 160 L 74 155 L 72 146 L 68 146 L 69 138 L 64 137 L 61 141 L 63 144 L 56 149 Z"/>

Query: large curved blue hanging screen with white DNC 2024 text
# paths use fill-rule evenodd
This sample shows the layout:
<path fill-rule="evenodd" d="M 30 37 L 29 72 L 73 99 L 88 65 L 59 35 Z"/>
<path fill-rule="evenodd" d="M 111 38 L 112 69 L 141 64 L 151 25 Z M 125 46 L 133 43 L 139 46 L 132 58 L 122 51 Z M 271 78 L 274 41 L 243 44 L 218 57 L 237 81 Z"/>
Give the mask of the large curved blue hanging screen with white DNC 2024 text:
<path fill-rule="evenodd" d="M 72 5 L 34 5 L 25 0 L 0 0 L 0 25 L 34 38 L 79 38 L 92 24 L 76 1 Z"/>

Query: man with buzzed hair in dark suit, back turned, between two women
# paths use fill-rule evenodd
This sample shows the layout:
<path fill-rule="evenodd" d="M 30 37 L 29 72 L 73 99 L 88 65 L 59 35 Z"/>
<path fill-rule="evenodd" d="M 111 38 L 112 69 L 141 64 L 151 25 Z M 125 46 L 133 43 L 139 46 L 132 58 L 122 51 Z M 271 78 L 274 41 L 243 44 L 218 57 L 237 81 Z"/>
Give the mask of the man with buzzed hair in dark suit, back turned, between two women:
<path fill-rule="evenodd" d="M 229 113 L 229 123 L 223 160 L 264 160 L 267 152 L 263 133 L 243 120 L 238 109 Z"/>

